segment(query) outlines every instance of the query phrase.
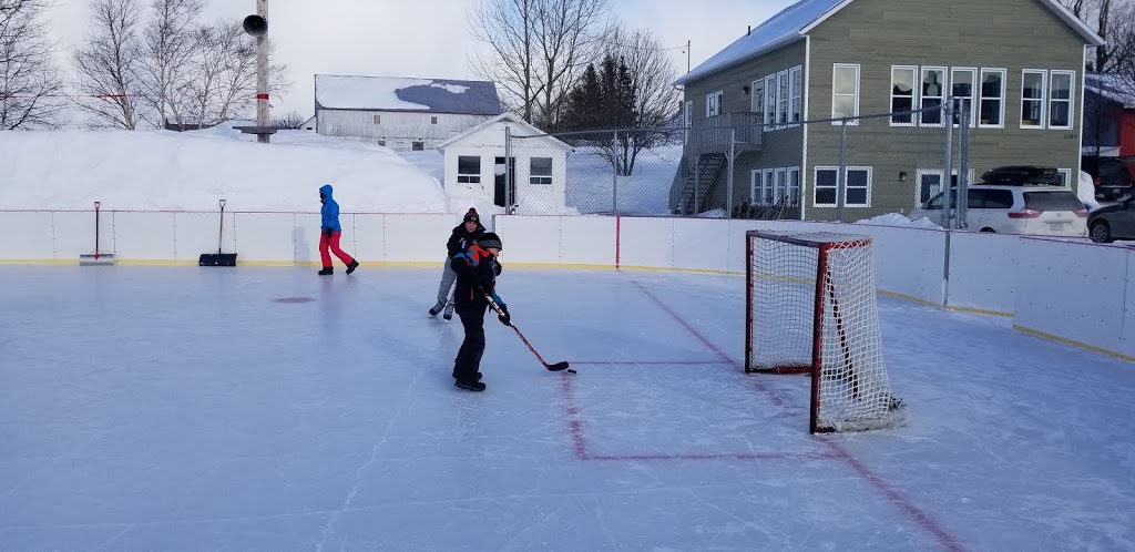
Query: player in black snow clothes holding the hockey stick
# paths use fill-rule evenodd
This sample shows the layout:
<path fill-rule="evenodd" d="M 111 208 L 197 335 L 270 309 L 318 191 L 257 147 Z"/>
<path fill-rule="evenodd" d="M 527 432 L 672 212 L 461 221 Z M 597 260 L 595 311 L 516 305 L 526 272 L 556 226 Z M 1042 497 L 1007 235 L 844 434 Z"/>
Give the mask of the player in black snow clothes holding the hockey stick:
<path fill-rule="evenodd" d="M 485 311 L 489 307 L 486 293 L 501 308 L 497 318 L 505 326 L 512 325 L 508 307 L 496 294 L 496 277 L 501 275 L 501 264 L 496 256 L 501 252 L 501 237 L 486 232 L 477 243 L 453 258 L 449 265 L 457 274 L 457 286 L 453 293 L 461 325 L 465 328 L 465 340 L 453 361 L 454 385 L 468 391 L 485 391 L 481 383 L 481 356 L 485 353 Z"/>

